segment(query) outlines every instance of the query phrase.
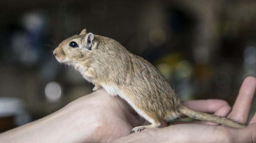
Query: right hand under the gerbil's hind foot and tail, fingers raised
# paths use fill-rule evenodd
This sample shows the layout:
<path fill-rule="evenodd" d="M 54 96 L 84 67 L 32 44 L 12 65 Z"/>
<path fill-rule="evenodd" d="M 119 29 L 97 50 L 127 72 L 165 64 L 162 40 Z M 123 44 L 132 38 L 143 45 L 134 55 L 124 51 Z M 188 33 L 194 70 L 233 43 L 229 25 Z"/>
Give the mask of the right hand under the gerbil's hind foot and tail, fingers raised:
<path fill-rule="evenodd" d="M 256 78 L 250 76 L 244 79 L 240 92 L 234 103 L 232 111 L 226 105 L 220 106 L 215 112 L 217 115 L 228 115 L 231 120 L 246 124 L 254 97 L 256 88 Z M 216 107 L 209 104 L 208 108 L 199 108 L 197 105 L 203 106 L 209 101 L 191 101 L 186 105 L 195 110 L 206 109 L 206 111 L 214 111 Z M 184 123 L 184 122 L 183 122 Z M 207 122 L 198 122 L 201 124 L 176 124 L 165 128 L 151 128 L 142 132 L 133 133 L 111 141 L 111 143 L 132 143 L 132 142 L 177 142 L 177 143 L 205 143 L 205 142 L 231 142 L 231 143 L 255 143 L 256 141 L 256 114 L 250 120 L 249 125 L 245 128 L 229 128 L 226 126 L 206 125 Z"/>

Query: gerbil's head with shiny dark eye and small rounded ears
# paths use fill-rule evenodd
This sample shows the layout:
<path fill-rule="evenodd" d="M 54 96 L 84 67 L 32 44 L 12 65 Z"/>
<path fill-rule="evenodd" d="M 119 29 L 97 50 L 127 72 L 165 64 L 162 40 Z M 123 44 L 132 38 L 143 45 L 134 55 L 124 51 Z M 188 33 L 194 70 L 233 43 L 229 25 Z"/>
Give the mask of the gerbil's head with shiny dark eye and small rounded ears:
<path fill-rule="evenodd" d="M 84 29 L 79 35 L 65 39 L 53 51 L 60 63 L 72 64 L 90 56 L 93 48 L 93 33 L 87 33 Z"/>

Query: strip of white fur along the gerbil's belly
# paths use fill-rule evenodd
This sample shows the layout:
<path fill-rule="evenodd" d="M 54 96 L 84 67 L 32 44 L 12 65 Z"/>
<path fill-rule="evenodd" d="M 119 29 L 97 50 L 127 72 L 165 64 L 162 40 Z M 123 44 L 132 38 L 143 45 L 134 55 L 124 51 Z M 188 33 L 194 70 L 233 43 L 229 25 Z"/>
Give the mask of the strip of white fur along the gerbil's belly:
<path fill-rule="evenodd" d="M 150 118 L 148 115 L 146 115 L 143 111 L 139 110 L 136 108 L 136 106 L 134 105 L 134 103 L 132 103 L 130 101 L 130 99 L 116 86 L 106 86 L 105 84 L 100 83 L 100 85 L 102 86 L 102 88 L 104 88 L 106 90 L 106 92 L 108 92 L 108 94 L 110 94 L 111 96 L 116 96 L 119 95 L 122 99 L 124 99 L 126 102 L 128 102 L 128 104 L 143 118 L 145 118 L 146 120 L 148 120 L 148 122 L 150 123 L 154 123 L 155 121 Z"/>

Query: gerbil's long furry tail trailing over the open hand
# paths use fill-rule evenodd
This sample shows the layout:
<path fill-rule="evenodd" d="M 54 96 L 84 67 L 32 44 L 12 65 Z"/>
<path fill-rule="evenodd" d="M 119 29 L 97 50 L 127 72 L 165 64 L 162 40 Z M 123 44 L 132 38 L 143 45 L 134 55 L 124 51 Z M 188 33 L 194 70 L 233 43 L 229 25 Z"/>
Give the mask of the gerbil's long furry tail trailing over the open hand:
<path fill-rule="evenodd" d="M 229 120 L 228 118 L 225 118 L 222 116 L 195 111 L 182 104 L 179 106 L 179 112 L 181 112 L 182 114 L 185 114 L 186 116 L 189 116 L 190 118 L 194 118 L 202 121 L 214 122 L 217 124 L 223 124 L 233 128 L 243 128 L 247 126 L 247 125 L 238 123 L 236 121 Z"/>

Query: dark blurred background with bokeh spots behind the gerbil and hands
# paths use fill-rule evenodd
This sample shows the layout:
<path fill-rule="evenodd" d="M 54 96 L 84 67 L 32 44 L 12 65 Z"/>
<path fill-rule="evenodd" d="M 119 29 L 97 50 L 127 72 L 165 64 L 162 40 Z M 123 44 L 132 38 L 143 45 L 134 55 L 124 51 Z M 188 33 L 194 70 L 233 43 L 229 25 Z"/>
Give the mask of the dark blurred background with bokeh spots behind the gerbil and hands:
<path fill-rule="evenodd" d="M 52 54 L 83 29 L 153 63 L 181 99 L 232 106 L 256 76 L 255 13 L 254 0 L 1 0 L 0 132 L 92 92 Z"/>

